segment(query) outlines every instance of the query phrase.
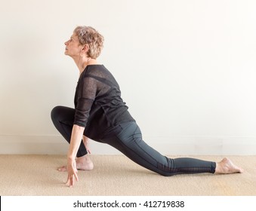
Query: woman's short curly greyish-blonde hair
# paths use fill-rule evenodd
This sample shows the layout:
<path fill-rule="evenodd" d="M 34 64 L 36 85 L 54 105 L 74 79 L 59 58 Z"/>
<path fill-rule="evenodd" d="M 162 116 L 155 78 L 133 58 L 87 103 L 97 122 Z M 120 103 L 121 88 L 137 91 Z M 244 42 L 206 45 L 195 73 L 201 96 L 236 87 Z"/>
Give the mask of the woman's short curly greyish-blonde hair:
<path fill-rule="evenodd" d="M 88 44 L 88 56 L 97 59 L 103 48 L 103 35 L 91 26 L 77 26 L 74 32 L 78 35 L 80 44 Z"/>

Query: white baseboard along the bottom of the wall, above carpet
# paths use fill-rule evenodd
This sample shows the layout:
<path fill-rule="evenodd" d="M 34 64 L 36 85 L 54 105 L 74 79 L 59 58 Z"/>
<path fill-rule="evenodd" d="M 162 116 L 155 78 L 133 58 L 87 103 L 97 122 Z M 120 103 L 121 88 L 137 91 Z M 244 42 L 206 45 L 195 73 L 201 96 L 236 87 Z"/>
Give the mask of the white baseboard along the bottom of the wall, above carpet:
<path fill-rule="evenodd" d="M 256 137 L 144 137 L 161 154 L 255 155 Z M 150 140 L 150 141 L 147 141 Z M 68 143 L 61 136 L 0 135 L 0 154 L 66 154 Z M 93 154 L 121 154 L 115 148 L 91 141 Z"/>

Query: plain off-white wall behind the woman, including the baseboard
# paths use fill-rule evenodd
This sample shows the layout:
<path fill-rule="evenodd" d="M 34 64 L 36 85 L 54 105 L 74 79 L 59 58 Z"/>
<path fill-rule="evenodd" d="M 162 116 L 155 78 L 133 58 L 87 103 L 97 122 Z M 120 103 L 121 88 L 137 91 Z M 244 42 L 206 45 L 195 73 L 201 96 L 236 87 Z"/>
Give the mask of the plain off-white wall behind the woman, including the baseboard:
<path fill-rule="evenodd" d="M 255 11 L 253 0 L 1 0 L 0 153 L 66 152 L 50 112 L 73 105 L 78 69 L 63 43 L 88 25 L 147 143 L 256 154 Z"/>

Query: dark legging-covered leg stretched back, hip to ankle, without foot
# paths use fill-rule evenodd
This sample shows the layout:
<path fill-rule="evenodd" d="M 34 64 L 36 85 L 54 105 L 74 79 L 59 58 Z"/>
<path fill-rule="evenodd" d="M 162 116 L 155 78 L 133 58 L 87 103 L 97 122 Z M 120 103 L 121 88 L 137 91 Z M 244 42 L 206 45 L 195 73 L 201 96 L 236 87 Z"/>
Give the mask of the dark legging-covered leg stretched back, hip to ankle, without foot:
<path fill-rule="evenodd" d="M 190 157 L 171 159 L 163 156 L 142 140 L 136 123 L 122 124 L 122 133 L 103 139 L 109 145 L 122 151 L 132 161 L 163 176 L 181 173 L 215 173 L 216 163 Z"/>

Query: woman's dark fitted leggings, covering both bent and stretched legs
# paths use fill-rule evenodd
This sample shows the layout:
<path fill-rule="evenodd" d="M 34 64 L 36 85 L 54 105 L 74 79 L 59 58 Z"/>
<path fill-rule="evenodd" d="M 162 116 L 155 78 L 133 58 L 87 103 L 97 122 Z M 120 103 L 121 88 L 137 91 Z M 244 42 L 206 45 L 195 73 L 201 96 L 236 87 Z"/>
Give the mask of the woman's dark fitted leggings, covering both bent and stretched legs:
<path fill-rule="evenodd" d="M 57 106 L 51 111 L 51 119 L 54 126 L 67 142 L 70 142 L 74 114 L 75 109 L 64 106 Z M 111 134 L 111 136 L 95 141 L 112 145 L 135 163 L 163 176 L 173 176 L 181 173 L 215 172 L 215 162 L 202 161 L 190 157 L 171 159 L 163 156 L 143 142 L 140 128 L 134 121 L 119 124 L 113 128 Z M 87 153 L 85 145 L 81 142 L 77 157 L 82 157 Z"/>

